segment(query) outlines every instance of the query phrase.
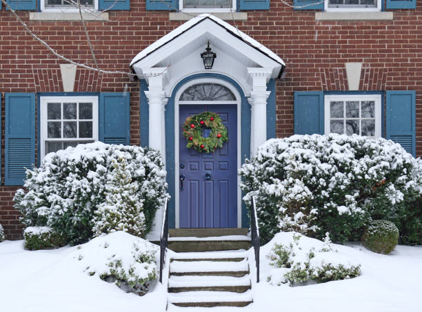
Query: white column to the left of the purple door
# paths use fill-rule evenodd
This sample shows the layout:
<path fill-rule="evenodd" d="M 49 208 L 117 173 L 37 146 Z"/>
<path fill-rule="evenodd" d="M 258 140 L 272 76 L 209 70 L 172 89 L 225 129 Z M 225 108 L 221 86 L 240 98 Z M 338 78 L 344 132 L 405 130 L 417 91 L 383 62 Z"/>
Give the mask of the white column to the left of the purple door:
<path fill-rule="evenodd" d="M 163 85 L 165 83 L 165 68 L 154 67 L 143 69 L 143 74 L 148 82 L 148 98 L 150 108 L 149 120 L 149 147 L 161 152 L 165 158 L 165 123 L 164 112 L 168 98 L 165 97 Z"/>

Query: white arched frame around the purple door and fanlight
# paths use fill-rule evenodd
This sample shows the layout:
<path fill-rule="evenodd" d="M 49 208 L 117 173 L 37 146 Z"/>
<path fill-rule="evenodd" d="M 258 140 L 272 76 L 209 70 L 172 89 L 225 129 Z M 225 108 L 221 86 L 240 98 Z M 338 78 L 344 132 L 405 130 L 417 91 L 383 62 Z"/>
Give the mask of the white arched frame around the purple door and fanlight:
<path fill-rule="evenodd" d="M 236 96 L 236 101 L 179 101 L 181 94 L 191 85 L 198 83 L 217 83 L 227 87 Z M 179 211 L 179 105 L 224 105 L 232 104 L 237 105 L 237 169 L 241 167 L 241 94 L 237 91 L 236 87 L 223 79 L 217 78 L 199 78 L 188 81 L 177 90 L 174 96 L 174 207 L 176 216 L 176 229 L 179 229 L 180 225 L 180 211 Z M 242 202 L 241 202 L 241 189 L 240 189 L 241 177 L 237 176 L 237 227 L 242 227 Z"/>

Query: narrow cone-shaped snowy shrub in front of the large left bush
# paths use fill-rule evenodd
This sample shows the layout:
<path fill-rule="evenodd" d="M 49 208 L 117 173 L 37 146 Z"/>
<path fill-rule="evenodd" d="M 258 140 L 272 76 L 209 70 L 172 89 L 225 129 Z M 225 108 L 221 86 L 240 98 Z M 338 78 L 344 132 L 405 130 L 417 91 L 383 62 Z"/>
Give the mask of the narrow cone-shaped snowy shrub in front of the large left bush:
<path fill-rule="evenodd" d="M 113 171 L 108 174 L 105 187 L 106 201 L 94 211 L 94 236 L 114 231 L 125 231 L 143 236 L 145 216 L 139 184 L 134 183 L 128 169 L 128 160 L 113 159 Z"/>

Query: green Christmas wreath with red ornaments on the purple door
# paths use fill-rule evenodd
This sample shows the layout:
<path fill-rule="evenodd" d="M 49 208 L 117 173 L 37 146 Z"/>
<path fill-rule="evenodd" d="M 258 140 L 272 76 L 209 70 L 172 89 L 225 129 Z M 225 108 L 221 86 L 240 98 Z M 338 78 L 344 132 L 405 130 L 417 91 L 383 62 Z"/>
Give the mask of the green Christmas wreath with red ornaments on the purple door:
<path fill-rule="evenodd" d="M 208 138 L 202 136 L 203 127 L 211 129 Z M 213 112 L 203 112 L 186 118 L 183 136 L 188 140 L 186 147 L 205 153 L 214 152 L 217 147 L 223 147 L 223 143 L 228 141 L 227 128 L 221 122 L 219 114 Z"/>

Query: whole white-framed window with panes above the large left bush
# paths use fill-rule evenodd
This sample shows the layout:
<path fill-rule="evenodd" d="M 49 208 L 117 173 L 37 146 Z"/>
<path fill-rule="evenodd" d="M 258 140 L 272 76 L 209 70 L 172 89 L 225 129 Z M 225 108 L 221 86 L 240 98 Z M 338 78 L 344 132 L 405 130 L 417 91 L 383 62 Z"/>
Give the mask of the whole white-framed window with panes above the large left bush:
<path fill-rule="evenodd" d="M 97 96 L 41 96 L 41 158 L 98 141 Z"/>

